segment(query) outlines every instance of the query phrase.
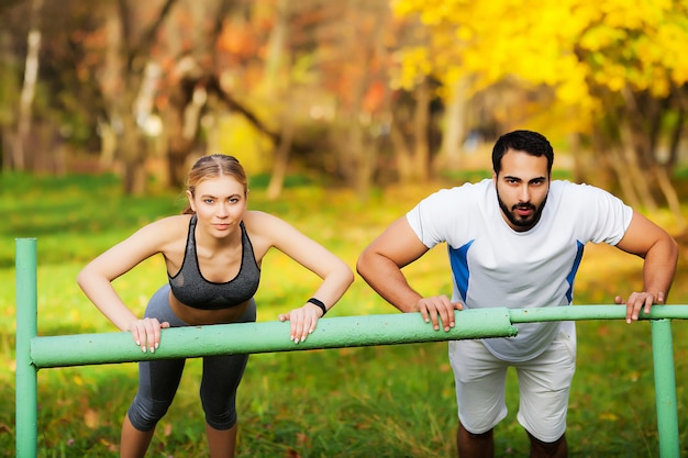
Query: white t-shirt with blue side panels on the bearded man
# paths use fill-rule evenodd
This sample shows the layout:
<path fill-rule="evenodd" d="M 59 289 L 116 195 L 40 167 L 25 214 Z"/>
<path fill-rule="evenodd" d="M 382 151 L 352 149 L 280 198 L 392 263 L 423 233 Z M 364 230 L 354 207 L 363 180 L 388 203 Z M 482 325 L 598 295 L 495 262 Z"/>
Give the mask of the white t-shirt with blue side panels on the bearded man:
<path fill-rule="evenodd" d="M 407 220 L 429 248 L 446 242 L 453 301 L 466 309 L 570 305 L 574 278 L 588 242 L 618 244 L 633 210 L 607 191 L 552 181 L 537 224 L 513 231 L 502 217 L 491 179 L 444 189 L 422 200 Z M 557 322 L 518 324 L 517 337 L 485 339 L 498 358 L 524 361 L 556 337 Z"/>

